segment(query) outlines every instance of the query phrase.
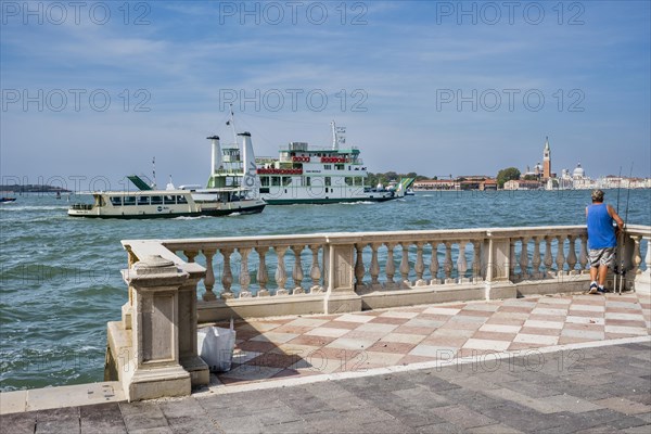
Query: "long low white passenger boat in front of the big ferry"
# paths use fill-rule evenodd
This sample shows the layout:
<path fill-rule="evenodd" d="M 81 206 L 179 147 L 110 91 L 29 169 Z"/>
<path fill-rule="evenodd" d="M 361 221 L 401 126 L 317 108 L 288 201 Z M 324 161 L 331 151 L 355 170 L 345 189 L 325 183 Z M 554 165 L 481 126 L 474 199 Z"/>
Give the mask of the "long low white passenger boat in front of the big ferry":
<path fill-rule="evenodd" d="M 250 193 L 241 188 L 93 192 L 92 204 L 72 205 L 68 216 L 133 219 L 261 213 L 265 201 Z"/>

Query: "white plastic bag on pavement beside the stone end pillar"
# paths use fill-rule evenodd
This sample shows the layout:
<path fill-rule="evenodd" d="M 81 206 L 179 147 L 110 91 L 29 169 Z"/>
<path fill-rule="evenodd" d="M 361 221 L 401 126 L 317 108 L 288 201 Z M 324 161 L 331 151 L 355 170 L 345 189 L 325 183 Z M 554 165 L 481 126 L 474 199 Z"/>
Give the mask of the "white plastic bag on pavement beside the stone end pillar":
<path fill-rule="evenodd" d="M 231 368 L 235 331 L 231 318 L 230 329 L 204 327 L 196 331 L 199 356 L 208 365 L 210 371 L 226 372 Z"/>

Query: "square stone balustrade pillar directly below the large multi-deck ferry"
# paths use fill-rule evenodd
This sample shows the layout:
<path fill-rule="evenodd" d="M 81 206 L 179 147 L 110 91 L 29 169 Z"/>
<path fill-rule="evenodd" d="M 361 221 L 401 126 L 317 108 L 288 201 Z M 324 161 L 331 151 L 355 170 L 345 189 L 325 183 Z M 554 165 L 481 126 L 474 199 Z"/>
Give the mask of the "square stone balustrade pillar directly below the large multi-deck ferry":
<path fill-rule="evenodd" d="M 361 310 L 361 297 L 355 293 L 355 245 L 326 244 L 324 298 L 326 314 L 352 312 Z"/>

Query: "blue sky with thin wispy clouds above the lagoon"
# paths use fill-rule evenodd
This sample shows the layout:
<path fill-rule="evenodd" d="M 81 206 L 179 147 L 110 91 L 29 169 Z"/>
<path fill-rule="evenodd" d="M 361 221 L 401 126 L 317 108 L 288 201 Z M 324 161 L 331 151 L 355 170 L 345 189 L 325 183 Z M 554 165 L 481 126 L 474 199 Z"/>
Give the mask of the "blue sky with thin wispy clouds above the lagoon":
<path fill-rule="evenodd" d="M 369 171 L 651 177 L 649 1 L 2 1 L 1 183 L 208 179 L 346 127 Z M 105 186 L 108 184 L 108 186 Z"/>

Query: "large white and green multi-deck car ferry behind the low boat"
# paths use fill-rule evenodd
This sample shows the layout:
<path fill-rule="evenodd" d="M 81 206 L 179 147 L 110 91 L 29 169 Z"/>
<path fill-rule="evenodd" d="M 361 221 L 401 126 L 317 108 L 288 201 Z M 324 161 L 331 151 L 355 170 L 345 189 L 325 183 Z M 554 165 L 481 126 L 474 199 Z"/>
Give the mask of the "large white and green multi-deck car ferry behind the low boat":
<path fill-rule="evenodd" d="M 231 114 L 229 125 L 233 128 Z M 213 139 L 214 168 L 208 188 L 242 186 L 258 193 L 270 205 L 328 204 L 345 202 L 384 202 L 401 197 L 409 184 L 396 189 L 367 186 L 367 167 L 359 149 L 345 145 L 345 128 L 332 127 L 332 145 L 310 146 L 291 142 L 281 146 L 278 157 L 256 158 L 250 132 L 239 136 L 243 156 L 237 144 L 221 149 Z"/>

